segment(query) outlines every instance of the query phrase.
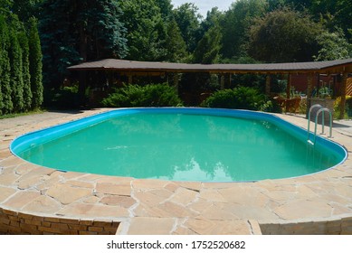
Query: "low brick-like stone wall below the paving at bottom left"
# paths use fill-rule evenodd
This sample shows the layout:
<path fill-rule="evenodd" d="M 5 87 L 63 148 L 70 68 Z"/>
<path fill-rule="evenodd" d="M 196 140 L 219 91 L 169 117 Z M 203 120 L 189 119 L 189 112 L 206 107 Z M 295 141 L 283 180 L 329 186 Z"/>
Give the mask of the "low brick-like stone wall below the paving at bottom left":
<path fill-rule="evenodd" d="M 42 217 L 0 208 L 0 234 L 115 235 L 119 223 L 113 220 Z"/>

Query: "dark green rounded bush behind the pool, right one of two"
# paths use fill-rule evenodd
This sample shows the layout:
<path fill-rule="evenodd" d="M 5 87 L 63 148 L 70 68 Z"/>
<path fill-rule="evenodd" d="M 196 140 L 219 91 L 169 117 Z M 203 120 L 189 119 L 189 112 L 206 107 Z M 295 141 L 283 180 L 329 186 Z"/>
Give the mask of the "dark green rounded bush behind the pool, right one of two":
<path fill-rule="evenodd" d="M 202 103 L 202 107 L 271 111 L 272 103 L 258 89 L 239 87 L 216 91 Z"/>

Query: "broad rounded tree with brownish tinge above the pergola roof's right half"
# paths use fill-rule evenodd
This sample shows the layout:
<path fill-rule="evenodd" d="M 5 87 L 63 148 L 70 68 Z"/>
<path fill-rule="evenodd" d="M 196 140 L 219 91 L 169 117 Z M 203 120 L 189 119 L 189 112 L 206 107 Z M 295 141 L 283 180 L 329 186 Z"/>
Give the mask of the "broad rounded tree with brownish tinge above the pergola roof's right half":
<path fill-rule="evenodd" d="M 259 61 L 312 61 L 322 27 L 308 15 L 290 9 L 276 10 L 258 20 L 250 30 L 249 54 Z"/>

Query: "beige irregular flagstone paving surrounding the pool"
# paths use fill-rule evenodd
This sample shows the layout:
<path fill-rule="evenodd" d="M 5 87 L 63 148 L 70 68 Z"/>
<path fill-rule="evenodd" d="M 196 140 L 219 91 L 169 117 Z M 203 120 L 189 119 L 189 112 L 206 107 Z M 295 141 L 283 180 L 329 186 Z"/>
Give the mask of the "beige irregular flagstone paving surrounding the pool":
<path fill-rule="evenodd" d="M 64 173 L 29 164 L 9 150 L 16 136 L 106 110 L 0 120 L 0 208 L 35 217 L 119 222 L 116 234 L 352 234 L 349 157 L 333 169 L 297 178 L 195 183 Z M 307 127 L 304 117 L 278 116 Z M 351 129 L 350 121 L 334 123 L 332 140 L 348 155 Z M 9 223 L 0 218 L 0 228 L 2 222 Z"/>

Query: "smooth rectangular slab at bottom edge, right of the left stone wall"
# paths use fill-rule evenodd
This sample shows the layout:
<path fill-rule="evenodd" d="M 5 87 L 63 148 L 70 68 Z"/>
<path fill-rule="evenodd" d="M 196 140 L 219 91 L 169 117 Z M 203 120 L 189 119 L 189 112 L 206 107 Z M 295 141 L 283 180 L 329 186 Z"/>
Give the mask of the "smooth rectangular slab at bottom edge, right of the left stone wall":
<path fill-rule="evenodd" d="M 128 235 L 170 235 L 175 218 L 136 217 L 129 221 Z"/>

